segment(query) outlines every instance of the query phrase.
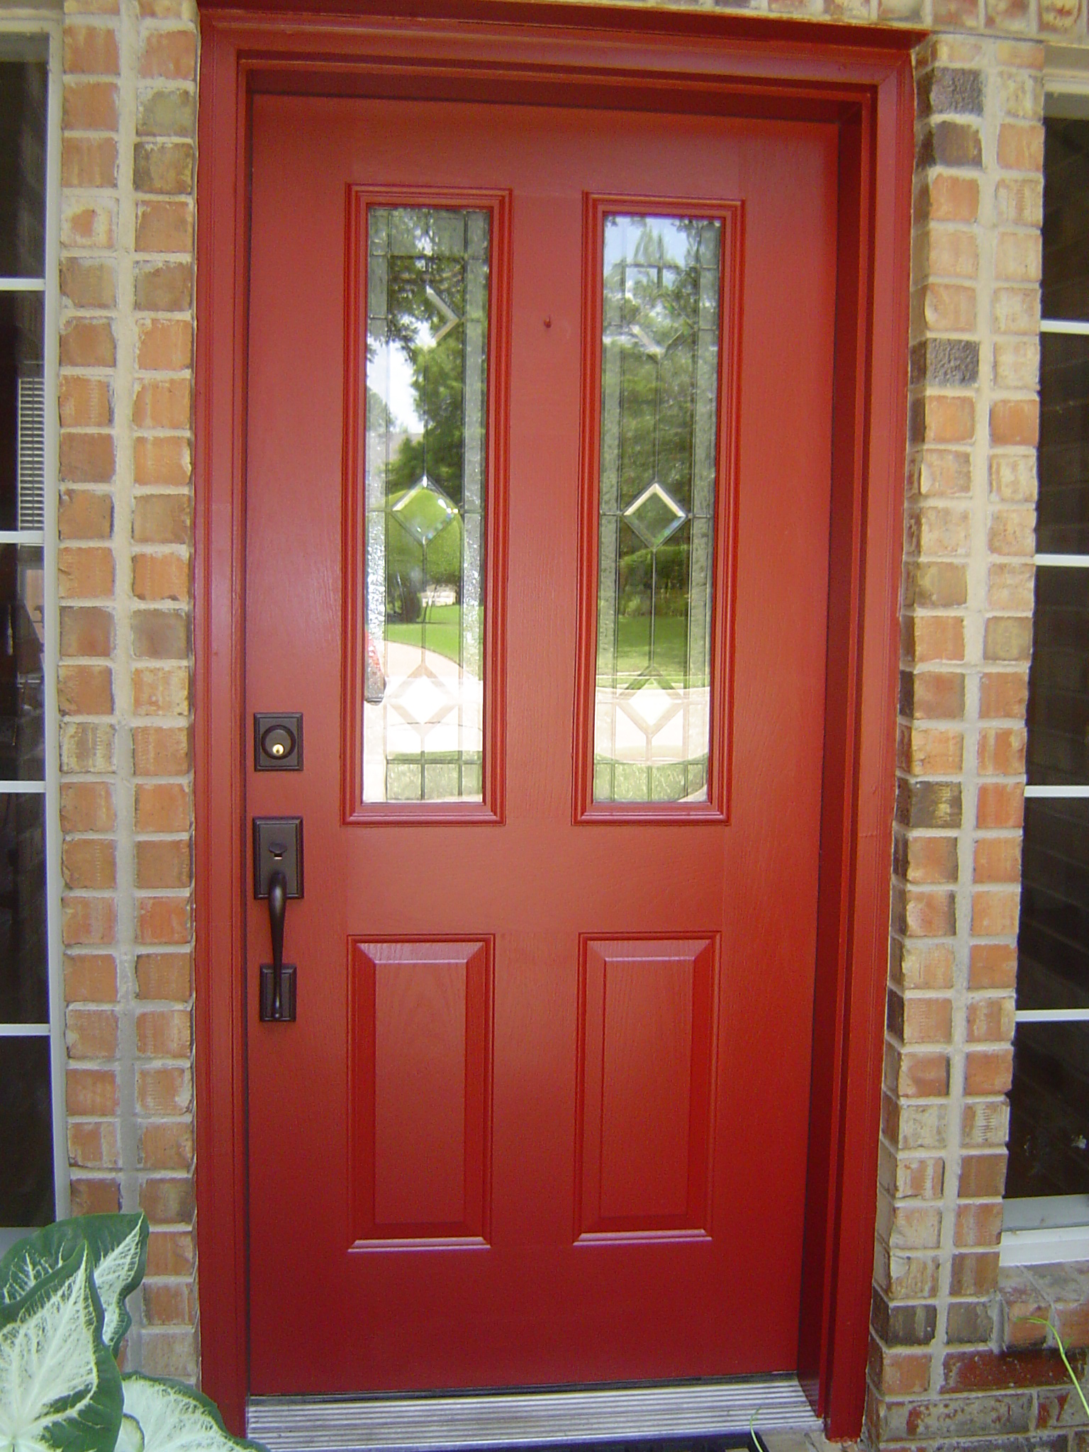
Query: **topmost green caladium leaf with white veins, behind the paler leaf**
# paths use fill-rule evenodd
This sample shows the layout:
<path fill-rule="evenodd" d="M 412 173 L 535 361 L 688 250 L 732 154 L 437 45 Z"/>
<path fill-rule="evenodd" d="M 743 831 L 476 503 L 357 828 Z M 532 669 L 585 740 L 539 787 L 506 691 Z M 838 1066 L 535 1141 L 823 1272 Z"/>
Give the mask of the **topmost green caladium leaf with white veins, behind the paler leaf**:
<path fill-rule="evenodd" d="M 0 1305 L 22 1300 L 33 1285 L 77 1255 L 81 1244 L 90 1250 L 94 1288 L 105 1314 L 102 1339 L 116 1356 L 132 1326 L 125 1297 L 144 1279 L 148 1260 L 144 1214 L 80 1215 L 20 1240 L 0 1260 Z"/>

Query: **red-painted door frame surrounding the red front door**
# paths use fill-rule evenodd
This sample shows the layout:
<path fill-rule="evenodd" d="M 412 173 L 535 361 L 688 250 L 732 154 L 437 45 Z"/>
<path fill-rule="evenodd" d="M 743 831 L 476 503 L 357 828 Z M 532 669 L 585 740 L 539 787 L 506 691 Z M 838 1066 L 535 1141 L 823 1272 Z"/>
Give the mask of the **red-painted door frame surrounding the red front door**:
<path fill-rule="evenodd" d="M 865 1397 L 894 796 L 913 83 L 903 29 L 520 0 L 399 16 L 202 4 L 196 356 L 196 1054 L 203 1385 L 247 1358 L 242 720 L 250 96 L 539 99 L 839 128 L 817 977 L 799 1375 L 832 1436 Z M 343 0 L 351 4 L 351 0 Z M 380 0 L 378 0 L 380 3 Z M 321 10 L 318 10 L 321 4 Z M 456 9 L 456 19 L 450 12 Z"/>

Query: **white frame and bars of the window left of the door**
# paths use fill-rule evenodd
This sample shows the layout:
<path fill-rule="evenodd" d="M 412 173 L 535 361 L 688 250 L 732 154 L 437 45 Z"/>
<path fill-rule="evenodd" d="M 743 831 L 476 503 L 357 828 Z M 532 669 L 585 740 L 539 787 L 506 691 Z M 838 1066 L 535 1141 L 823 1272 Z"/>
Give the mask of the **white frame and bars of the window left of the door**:
<path fill-rule="evenodd" d="M 0 292 L 35 290 L 44 295 L 44 392 L 45 392 L 45 520 L 41 530 L 3 530 L 0 544 L 41 544 L 44 569 L 45 649 L 45 780 L 0 781 L 0 793 L 45 796 L 45 902 L 49 984 L 49 1019 L 45 1024 L 0 1024 L 0 1037 L 49 1040 L 52 1089 L 54 1205 L 58 1220 L 70 1208 L 68 1135 L 64 1112 L 64 954 L 61 947 L 61 784 L 60 784 L 60 709 L 57 703 L 57 665 L 60 607 L 57 594 L 57 370 L 60 354 L 60 212 L 61 212 L 61 99 L 62 48 L 60 13 L 41 9 L 6 10 L 0 15 L 0 57 L 39 58 L 46 45 L 48 91 L 45 122 L 45 276 L 36 279 L 1 277 Z M 20 42 L 26 42 L 25 46 Z M 0 1227 L 0 1253 L 25 1230 Z"/>

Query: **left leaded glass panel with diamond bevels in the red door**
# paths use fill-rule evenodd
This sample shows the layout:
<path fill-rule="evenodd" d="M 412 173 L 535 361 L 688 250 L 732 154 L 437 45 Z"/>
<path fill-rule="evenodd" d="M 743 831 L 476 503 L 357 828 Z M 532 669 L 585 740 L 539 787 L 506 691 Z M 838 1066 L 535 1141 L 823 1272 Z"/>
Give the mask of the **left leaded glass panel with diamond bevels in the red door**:
<path fill-rule="evenodd" d="M 364 802 L 481 802 L 489 215 L 370 208 Z"/>

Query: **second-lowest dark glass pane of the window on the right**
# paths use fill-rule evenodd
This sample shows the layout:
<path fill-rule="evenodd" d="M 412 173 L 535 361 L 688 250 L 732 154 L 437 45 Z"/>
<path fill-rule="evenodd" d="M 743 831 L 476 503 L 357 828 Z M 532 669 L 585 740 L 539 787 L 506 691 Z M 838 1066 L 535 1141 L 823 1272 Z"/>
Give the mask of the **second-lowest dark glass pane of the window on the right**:
<path fill-rule="evenodd" d="M 1025 802 L 1018 1008 L 1089 1008 L 1089 800 Z"/>

